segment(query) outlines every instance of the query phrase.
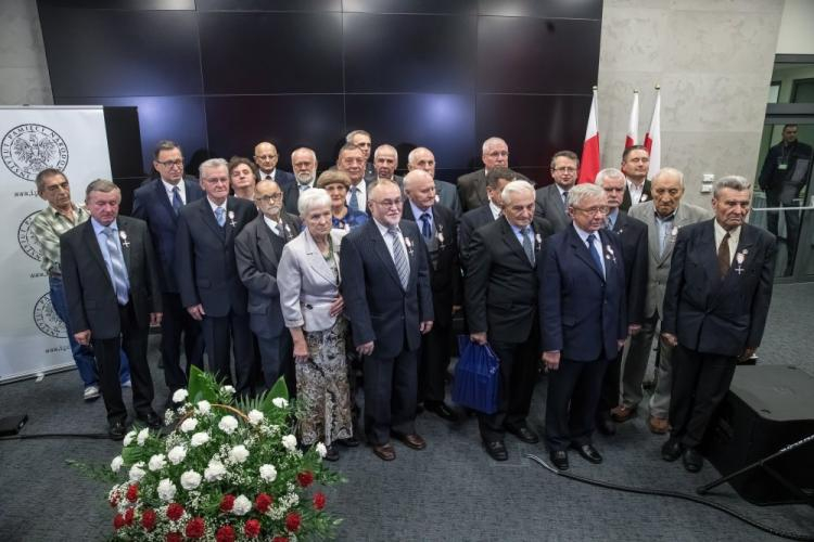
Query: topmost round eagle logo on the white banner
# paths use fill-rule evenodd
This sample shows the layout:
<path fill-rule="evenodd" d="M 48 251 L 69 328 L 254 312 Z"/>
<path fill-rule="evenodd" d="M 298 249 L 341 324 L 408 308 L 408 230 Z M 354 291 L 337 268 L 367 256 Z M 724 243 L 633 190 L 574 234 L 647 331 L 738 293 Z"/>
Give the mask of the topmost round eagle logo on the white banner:
<path fill-rule="evenodd" d="M 68 150 L 62 137 L 42 125 L 20 125 L 3 136 L 3 164 L 21 179 L 34 181 L 46 168 L 65 170 Z"/>

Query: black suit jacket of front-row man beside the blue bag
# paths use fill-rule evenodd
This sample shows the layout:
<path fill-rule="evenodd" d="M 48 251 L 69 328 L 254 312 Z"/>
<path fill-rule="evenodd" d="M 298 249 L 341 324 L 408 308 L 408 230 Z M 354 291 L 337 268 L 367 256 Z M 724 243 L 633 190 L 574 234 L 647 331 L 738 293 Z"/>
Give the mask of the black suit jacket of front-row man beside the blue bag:
<path fill-rule="evenodd" d="M 534 220 L 535 262 L 551 225 Z M 472 333 L 505 343 L 529 338 L 537 311 L 537 272 L 506 217 L 479 228 L 470 244 L 463 283 L 467 322 Z"/>

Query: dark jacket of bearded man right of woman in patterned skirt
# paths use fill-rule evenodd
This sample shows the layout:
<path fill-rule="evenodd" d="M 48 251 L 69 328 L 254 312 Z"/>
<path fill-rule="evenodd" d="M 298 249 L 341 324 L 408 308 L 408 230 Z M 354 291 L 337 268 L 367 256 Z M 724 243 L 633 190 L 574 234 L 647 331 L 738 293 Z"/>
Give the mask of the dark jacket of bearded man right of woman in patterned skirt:
<path fill-rule="evenodd" d="M 395 358 L 421 346 L 419 323 L 434 319 L 427 247 L 415 223 L 399 222 L 408 250 L 410 280 L 402 287 L 393 257 L 374 220 L 342 238 L 342 297 L 355 346 L 376 341 L 373 356 Z"/>

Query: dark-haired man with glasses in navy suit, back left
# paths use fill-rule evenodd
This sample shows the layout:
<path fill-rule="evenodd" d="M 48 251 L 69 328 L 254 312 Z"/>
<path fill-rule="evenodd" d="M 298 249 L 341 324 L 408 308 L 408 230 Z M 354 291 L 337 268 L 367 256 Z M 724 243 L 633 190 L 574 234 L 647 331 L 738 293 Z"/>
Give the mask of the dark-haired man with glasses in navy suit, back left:
<path fill-rule="evenodd" d="M 171 399 L 175 390 L 187 387 L 190 366 L 203 369 L 201 324 L 183 308 L 178 293 L 175 237 L 181 208 L 201 199 L 204 194 L 194 178 L 185 179 L 183 154 L 177 143 L 160 141 L 153 153 L 153 167 L 158 177 L 133 192 L 132 216 L 147 222 L 158 256 L 158 280 L 164 309 L 161 321 L 161 358 L 164 382 Z M 187 371 L 180 366 L 181 336 Z"/>

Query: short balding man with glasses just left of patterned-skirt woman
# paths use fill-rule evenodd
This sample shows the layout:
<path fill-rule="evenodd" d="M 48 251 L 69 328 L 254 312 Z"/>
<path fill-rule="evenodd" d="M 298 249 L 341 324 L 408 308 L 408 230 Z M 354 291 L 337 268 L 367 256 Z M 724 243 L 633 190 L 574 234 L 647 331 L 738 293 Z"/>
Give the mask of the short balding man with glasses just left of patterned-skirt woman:
<path fill-rule="evenodd" d="M 300 234 L 302 222 L 282 212 L 282 192 L 274 181 L 257 183 L 254 202 L 259 215 L 234 238 L 238 273 L 249 292 L 249 325 L 257 337 L 266 389 L 284 376 L 294 390 L 293 345 L 280 309 L 277 266 L 285 243 Z"/>

